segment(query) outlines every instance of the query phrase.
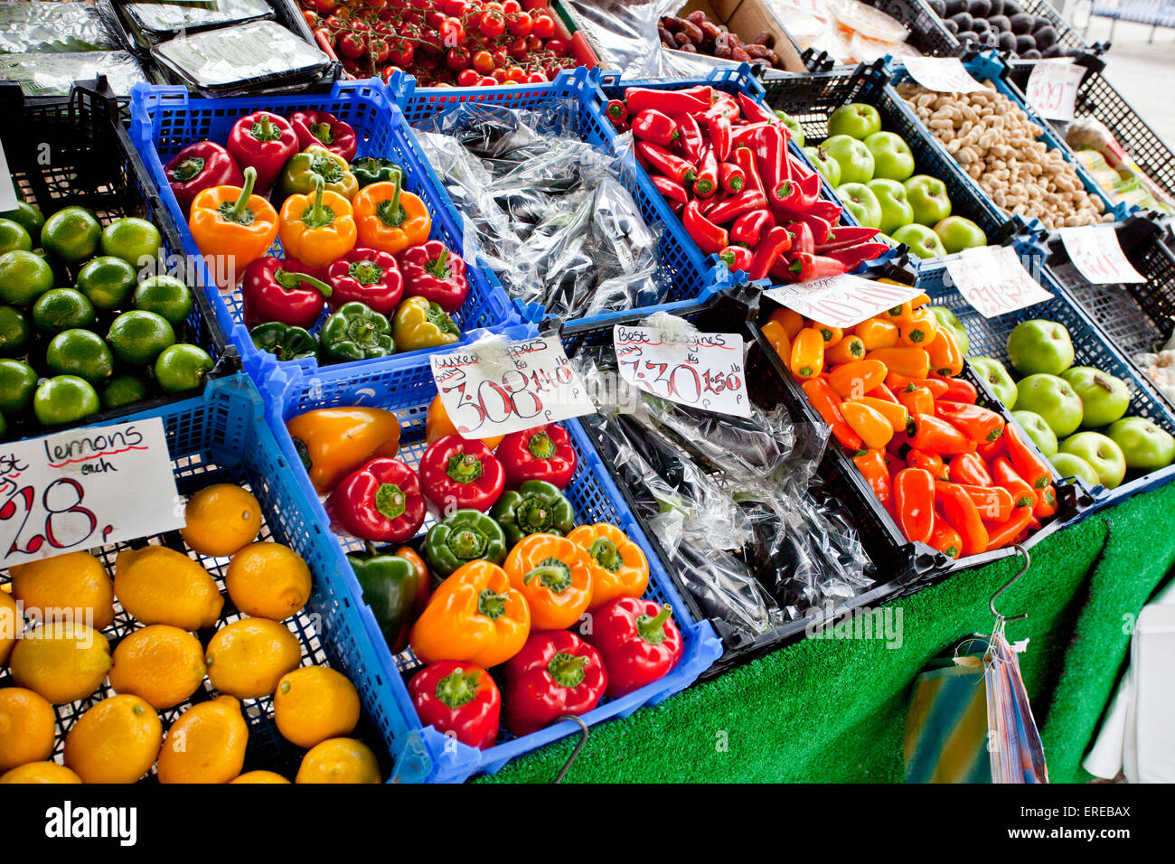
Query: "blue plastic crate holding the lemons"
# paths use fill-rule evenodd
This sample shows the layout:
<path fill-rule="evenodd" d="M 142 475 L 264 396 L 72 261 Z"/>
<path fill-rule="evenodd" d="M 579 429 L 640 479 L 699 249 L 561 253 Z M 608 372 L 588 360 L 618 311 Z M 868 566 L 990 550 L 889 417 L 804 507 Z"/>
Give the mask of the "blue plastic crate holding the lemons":
<path fill-rule="evenodd" d="M 355 684 L 363 704 L 363 718 L 355 735 L 376 752 L 382 763 L 382 776 L 388 777 L 391 772 L 390 745 L 402 736 L 403 719 L 389 697 L 384 674 L 374 659 L 372 643 L 351 600 L 357 590 L 354 574 L 315 510 L 317 500 L 314 500 L 315 507 L 311 507 L 303 485 L 295 478 L 262 414 L 261 396 L 249 379 L 239 373 L 210 382 L 200 397 L 174 402 L 155 411 L 120 417 L 116 422 L 160 417 L 181 495 L 195 493 L 216 482 L 244 485 L 261 503 L 263 524 L 258 540 L 284 543 L 306 560 L 314 575 L 310 602 L 286 623 L 301 643 L 303 665 L 334 667 Z M 114 561 L 121 550 L 147 543 L 168 545 L 188 554 L 208 569 L 223 590 L 229 560 L 207 557 L 188 550 L 177 531 L 115 543 L 93 551 L 113 572 Z M 7 571 L 0 571 L 0 583 L 7 581 Z M 114 623 L 103 631 L 112 642 L 140 627 L 120 605 L 115 607 L 115 612 Z M 242 617 L 244 616 L 236 611 L 231 601 L 227 600 L 217 628 Z M 200 635 L 206 636 L 204 632 Z M 0 686 L 8 684 L 11 679 L 0 674 Z M 63 748 L 63 735 L 78 718 L 110 695 L 113 691 L 103 684 L 86 699 L 55 706 L 56 757 L 60 757 Z M 160 712 L 164 731 L 192 704 L 214 696 L 210 682 L 204 679 L 189 699 Z M 249 725 L 243 770 L 266 769 L 293 779 L 306 751 L 286 741 L 277 731 L 273 718 L 273 698 L 242 699 L 241 706 Z M 397 769 L 404 770 L 400 766 Z"/>

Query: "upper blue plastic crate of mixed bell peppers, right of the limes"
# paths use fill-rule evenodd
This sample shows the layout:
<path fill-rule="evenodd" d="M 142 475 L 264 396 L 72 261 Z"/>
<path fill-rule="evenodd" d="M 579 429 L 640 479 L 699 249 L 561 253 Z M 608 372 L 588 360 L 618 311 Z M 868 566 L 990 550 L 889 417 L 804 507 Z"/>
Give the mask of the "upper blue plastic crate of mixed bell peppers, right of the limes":
<path fill-rule="evenodd" d="M 199 260 L 199 249 L 163 174 L 163 165 L 180 149 L 195 141 L 206 139 L 226 141 L 233 125 L 246 114 L 266 109 L 287 115 L 303 108 L 329 110 L 355 127 L 360 141 L 360 156 L 384 156 L 401 165 L 407 175 L 405 188 L 419 195 L 432 214 L 431 237 L 441 240 L 462 255 L 465 249 L 462 232 L 454 228 L 449 199 L 422 165 L 423 156 L 416 141 L 408 130 L 400 108 L 385 98 L 382 82 L 377 80 L 337 82 L 323 94 L 267 94 L 239 99 L 199 99 L 183 87 L 136 85 L 132 88 L 130 96 L 130 135 L 134 146 L 142 156 L 159 189 L 160 199 L 179 230 L 184 252 L 197 256 L 194 259 L 199 261 L 196 269 L 204 292 L 216 310 L 217 322 L 240 350 L 246 371 L 257 382 L 264 381 L 281 366 L 296 366 L 313 374 L 318 364 L 313 359 L 280 363 L 274 355 L 254 347 L 242 320 L 240 292 L 237 289 L 230 293 L 220 292 L 208 268 Z M 280 255 L 280 243 L 275 243 L 271 254 Z M 454 314 L 454 319 L 465 333 L 457 344 L 466 344 L 470 341 L 469 331 L 476 328 L 501 329 L 521 321 L 497 280 L 475 266 L 475 262 L 468 263 L 469 297 Z M 323 320 L 325 313 L 315 330 Z M 415 362 L 417 356 L 425 353 L 428 351 L 409 351 L 394 355 L 391 359 L 377 357 L 333 366 L 357 370 L 371 364 Z"/>

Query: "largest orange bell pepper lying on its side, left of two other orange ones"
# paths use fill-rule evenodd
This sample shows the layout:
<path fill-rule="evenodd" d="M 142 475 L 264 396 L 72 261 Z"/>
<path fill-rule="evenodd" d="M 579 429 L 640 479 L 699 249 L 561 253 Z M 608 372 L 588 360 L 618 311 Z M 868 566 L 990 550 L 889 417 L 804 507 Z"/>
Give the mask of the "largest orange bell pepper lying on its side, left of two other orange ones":
<path fill-rule="evenodd" d="M 432 592 L 408 644 L 424 663 L 455 659 L 489 669 L 518 654 L 529 635 L 530 607 L 506 571 L 470 561 Z"/>

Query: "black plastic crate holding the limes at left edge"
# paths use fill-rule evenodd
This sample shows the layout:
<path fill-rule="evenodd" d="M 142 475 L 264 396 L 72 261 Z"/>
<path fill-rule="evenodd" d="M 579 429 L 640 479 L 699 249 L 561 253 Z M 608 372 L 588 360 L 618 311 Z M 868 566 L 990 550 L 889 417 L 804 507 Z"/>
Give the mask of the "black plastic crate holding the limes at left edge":
<path fill-rule="evenodd" d="M 0 129 L 0 142 L 4 143 L 13 183 L 26 201 L 40 207 L 46 217 L 68 205 L 92 210 L 103 225 L 121 216 L 141 216 L 159 228 L 164 260 L 183 260 L 183 246 L 173 226 L 162 216 L 159 195 L 118 120 L 119 103 L 108 93 L 100 93 L 96 82 L 74 87 L 67 98 L 32 100 L 24 99 L 15 83 L 0 85 L 0 105 L 8 116 L 8 122 Z M 181 279 L 184 279 L 186 269 L 181 267 Z M 176 328 L 177 341 L 197 344 L 212 355 L 216 366 L 209 379 L 239 371 L 240 356 L 216 328 L 203 289 L 199 284 L 192 286 L 190 279 L 184 281 L 192 287 L 193 308 L 187 322 Z M 41 348 L 43 346 L 34 341 L 31 350 Z M 200 391 L 161 393 L 142 402 L 103 410 L 59 427 L 41 427 L 35 421 L 8 417 L 6 437 L 19 438 L 89 426 L 153 410 L 190 398 Z"/>

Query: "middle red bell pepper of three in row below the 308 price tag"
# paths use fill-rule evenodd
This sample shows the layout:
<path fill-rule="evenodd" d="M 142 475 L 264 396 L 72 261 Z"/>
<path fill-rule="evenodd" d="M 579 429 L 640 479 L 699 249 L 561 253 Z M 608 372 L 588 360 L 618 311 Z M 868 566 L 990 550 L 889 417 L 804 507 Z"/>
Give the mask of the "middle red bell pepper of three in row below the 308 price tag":
<path fill-rule="evenodd" d="M 505 471 L 484 441 L 445 435 L 424 451 L 421 485 L 441 513 L 465 508 L 484 513 L 502 495 Z"/>

